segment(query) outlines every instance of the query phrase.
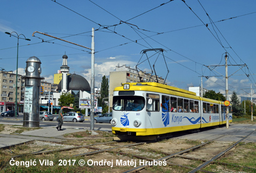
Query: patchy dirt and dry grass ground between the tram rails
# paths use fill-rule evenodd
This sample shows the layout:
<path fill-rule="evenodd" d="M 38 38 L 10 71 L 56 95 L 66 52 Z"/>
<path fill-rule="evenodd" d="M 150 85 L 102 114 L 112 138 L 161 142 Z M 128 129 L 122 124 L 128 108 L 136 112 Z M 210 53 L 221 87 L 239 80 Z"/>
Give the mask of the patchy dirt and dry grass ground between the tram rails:
<path fill-rule="evenodd" d="M 1 129 L 2 134 L 10 134 L 15 133 L 17 130 L 20 130 L 20 128 L 17 128 L 16 126 L 11 125 L 4 125 L 4 128 Z M 23 129 L 27 130 L 27 129 Z M 33 129 L 31 129 L 33 130 Z M 77 137 L 79 136 L 79 137 Z M 107 136 L 107 137 L 105 137 Z M 111 134 L 107 134 L 107 132 L 99 133 L 97 136 L 98 139 L 105 139 L 107 141 L 111 141 L 110 137 Z M 24 144 L 23 146 L 14 147 L 12 150 L 6 149 L 1 151 L 0 156 L 4 154 L 5 156 L 15 156 L 18 154 L 25 154 L 25 153 L 32 153 L 36 151 L 47 151 L 47 150 L 57 150 L 57 149 L 63 149 L 63 148 L 69 148 L 77 146 L 76 141 L 79 140 L 81 144 L 88 144 L 88 143 L 98 143 L 100 141 L 91 139 L 90 142 L 88 141 L 88 133 L 84 132 L 77 132 L 75 134 L 69 134 L 66 135 L 67 143 L 53 143 L 53 142 L 42 142 L 42 141 L 34 141 Z M 95 136 L 94 136 L 95 138 Z M 72 144 L 73 141 L 73 144 Z M 100 149 L 110 149 L 112 147 L 117 146 L 124 146 L 132 142 L 118 142 L 118 143 L 112 143 L 108 145 L 100 144 L 98 146 L 94 146 Z M 136 161 L 136 167 L 138 167 L 142 161 L 145 161 L 144 159 L 139 159 L 139 157 L 146 157 L 151 158 L 153 160 L 158 160 L 159 158 L 163 158 L 167 155 L 171 155 L 173 153 L 177 153 L 179 151 L 189 149 L 190 147 L 196 146 L 200 143 L 203 143 L 202 141 L 197 140 L 182 140 L 182 139 L 168 139 L 168 140 L 162 140 L 160 142 L 156 143 L 148 143 L 148 144 L 142 144 L 134 147 L 119 147 L 118 149 L 111 150 L 111 152 L 103 152 L 98 154 L 93 154 L 90 156 L 83 156 L 84 160 L 90 160 L 95 163 L 99 163 L 100 161 L 110 161 L 112 163 L 112 167 L 110 165 L 100 165 L 100 166 L 87 166 L 86 170 L 87 172 L 124 172 L 127 170 L 131 170 L 135 167 L 135 164 L 129 164 L 131 161 Z M 212 142 L 210 144 L 207 144 L 205 147 L 201 147 L 200 149 L 197 149 L 195 151 L 190 151 L 188 153 L 183 154 L 183 156 L 193 157 L 193 158 L 203 158 L 206 160 L 209 160 L 216 154 L 220 153 L 221 151 L 227 149 L 233 144 L 233 142 Z M 93 149 L 87 149 L 87 148 L 80 148 L 76 150 L 69 150 L 65 151 L 62 154 L 62 158 L 66 157 L 72 157 L 77 154 L 81 153 L 88 153 L 91 151 L 95 151 Z M 118 152 L 126 153 L 125 155 L 119 154 Z M 227 163 L 231 164 L 240 164 L 245 165 L 248 167 L 256 168 L 256 162 L 251 165 L 247 165 L 247 163 L 242 163 L 241 160 L 245 160 L 245 158 L 250 158 L 252 154 L 252 160 L 255 158 L 256 154 L 256 144 L 240 144 L 235 149 L 233 149 L 230 153 L 228 153 L 225 157 L 222 158 L 222 160 L 226 161 Z M 2 155 L 2 156 L 4 156 Z M 56 155 L 56 154 L 55 154 Z M 1 156 L 1 157 L 2 157 Z M 43 156 L 38 156 L 39 158 L 49 159 L 54 157 L 54 154 L 47 154 Z M 248 159 L 247 158 L 247 159 Z M 117 163 L 117 160 L 119 163 Z M 120 161 L 122 161 L 120 165 Z M 202 164 L 195 160 L 189 160 L 187 158 L 181 158 L 181 157 L 173 157 L 167 160 L 168 162 L 172 164 L 181 164 L 186 167 L 197 167 L 198 165 Z M 119 164 L 119 165 L 118 165 Z M 240 170 L 234 170 L 233 168 L 223 168 L 223 166 L 217 165 L 214 168 L 209 168 L 209 171 L 215 170 L 216 172 L 243 172 Z M 143 173 L 149 173 L 149 172 L 189 172 L 190 170 L 187 170 L 184 168 L 180 170 L 180 168 L 173 168 L 167 166 L 156 166 L 151 168 L 146 168 L 145 170 L 142 170 Z M 213 172 L 215 172 L 213 171 Z M 78 172 L 80 172 L 78 170 Z M 252 171 L 253 172 L 253 171 Z"/>

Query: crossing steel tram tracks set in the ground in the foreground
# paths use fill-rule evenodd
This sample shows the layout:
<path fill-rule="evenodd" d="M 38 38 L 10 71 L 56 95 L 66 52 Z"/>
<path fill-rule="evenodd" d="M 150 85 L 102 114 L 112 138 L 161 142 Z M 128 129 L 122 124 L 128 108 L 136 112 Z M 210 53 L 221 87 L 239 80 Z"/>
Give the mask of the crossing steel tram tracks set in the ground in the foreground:
<path fill-rule="evenodd" d="M 234 132 L 231 132 L 231 133 L 237 133 L 237 131 L 239 131 L 239 130 L 241 130 L 241 129 L 235 130 Z M 255 131 L 253 131 L 253 132 L 255 132 Z M 250 134 L 245 136 L 243 139 L 239 140 L 235 144 L 233 144 L 230 147 L 228 147 L 228 151 L 230 151 L 238 143 L 242 142 L 244 139 L 246 139 L 248 136 L 250 136 L 253 132 L 251 132 Z M 227 135 L 230 135 L 231 133 L 228 133 Z M 110 153 L 110 154 L 115 154 L 115 156 L 118 154 L 118 155 L 126 156 L 126 157 L 131 158 L 131 159 L 138 158 L 139 160 L 147 160 L 147 161 L 163 161 L 163 160 L 166 160 L 166 164 L 168 164 L 170 167 L 172 167 L 172 166 L 181 167 L 181 168 L 186 169 L 187 172 L 189 172 L 190 170 L 193 171 L 195 169 L 197 169 L 197 170 L 195 170 L 195 172 L 199 171 L 199 170 L 202 171 L 202 172 L 211 172 L 211 171 L 202 170 L 204 167 L 206 167 L 206 165 L 202 164 L 202 166 L 200 165 L 201 167 L 193 168 L 193 167 L 191 167 L 189 165 L 182 165 L 182 164 L 173 163 L 172 161 L 170 161 L 170 158 L 179 157 L 179 158 L 185 158 L 185 159 L 190 159 L 190 160 L 200 160 L 200 161 L 205 162 L 205 163 L 207 162 L 207 165 L 208 164 L 212 164 L 212 163 L 213 164 L 225 165 L 225 163 L 220 163 L 220 162 L 214 161 L 217 158 L 223 156 L 223 154 L 221 154 L 221 156 L 218 156 L 217 158 L 213 157 L 211 160 L 202 159 L 202 158 L 193 158 L 193 157 L 182 155 L 184 153 L 189 153 L 189 152 L 192 152 L 192 151 L 196 151 L 197 149 L 200 149 L 200 148 L 206 146 L 207 144 L 213 143 L 214 140 L 220 139 L 221 137 L 225 137 L 225 136 L 226 135 L 222 135 L 222 136 L 216 137 L 213 140 L 209 140 L 209 141 L 204 142 L 202 144 L 198 144 L 196 146 L 190 147 L 189 149 L 182 150 L 182 151 L 179 151 L 179 152 L 176 152 L 176 153 L 168 153 L 168 152 L 163 152 L 163 151 L 159 151 L 159 150 L 150 150 L 151 152 L 154 152 L 154 153 L 161 153 L 161 154 L 166 155 L 165 157 L 161 157 L 161 158 L 157 158 L 157 159 L 156 158 L 154 159 L 154 158 L 148 158 L 148 157 L 141 156 L 141 153 L 140 154 L 131 154 L 131 153 L 127 152 L 127 151 L 118 151 L 119 149 L 124 149 L 124 148 L 134 149 L 134 150 L 136 149 L 136 150 L 139 150 L 141 152 L 144 152 L 145 153 L 144 155 L 150 156 L 150 154 L 147 154 L 148 153 L 147 150 L 141 149 L 141 148 L 139 148 L 139 146 L 145 145 L 145 144 L 148 144 L 148 143 L 152 143 L 152 141 L 151 142 L 129 143 L 129 144 L 122 143 L 122 142 L 103 142 L 103 143 L 87 144 L 87 145 L 83 145 L 83 146 L 69 147 L 69 148 L 58 149 L 58 150 L 37 151 L 37 152 L 27 153 L 27 154 L 38 155 L 38 154 L 50 154 L 50 153 L 56 153 L 56 152 L 61 153 L 63 151 L 76 150 L 76 149 L 80 149 L 80 148 L 84 147 L 84 148 L 87 148 L 87 149 L 90 149 L 90 150 L 94 150 L 94 151 L 89 151 L 89 152 L 86 152 L 86 153 L 71 155 L 70 157 L 73 157 L 73 158 L 79 157 L 79 158 L 81 158 L 81 157 L 86 157 L 86 156 L 97 155 L 97 154 L 100 154 L 100 153 Z M 170 139 L 170 140 L 172 140 L 172 139 Z M 109 148 L 104 149 L 104 147 L 99 147 L 100 145 L 104 145 L 104 146 L 107 146 Z M 160 145 L 160 143 L 159 143 L 159 145 Z M 221 151 L 220 153 L 224 152 L 224 154 L 225 154 L 228 151 Z M 13 156 L 13 158 L 15 158 L 15 157 L 22 157 L 22 156 L 23 156 L 23 154 L 18 155 L 18 156 Z M 234 165 L 234 166 L 237 166 L 237 165 Z M 147 167 L 151 167 L 151 165 L 147 165 L 147 164 L 140 165 L 139 167 L 132 168 L 131 170 L 128 170 L 128 171 L 125 171 L 125 172 L 140 172 L 141 170 L 143 170 L 144 168 L 147 168 Z M 248 170 L 249 169 L 255 170 L 254 168 L 250 168 L 250 167 L 242 167 L 242 168 L 247 168 Z"/>

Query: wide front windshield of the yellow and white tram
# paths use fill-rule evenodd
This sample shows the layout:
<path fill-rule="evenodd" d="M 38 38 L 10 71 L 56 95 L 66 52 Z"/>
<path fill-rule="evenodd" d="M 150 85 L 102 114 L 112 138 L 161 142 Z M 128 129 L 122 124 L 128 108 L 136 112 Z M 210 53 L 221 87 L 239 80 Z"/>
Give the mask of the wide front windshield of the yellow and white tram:
<path fill-rule="evenodd" d="M 141 111 L 144 106 L 144 97 L 115 96 L 113 98 L 113 110 L 115 111 Z"/>

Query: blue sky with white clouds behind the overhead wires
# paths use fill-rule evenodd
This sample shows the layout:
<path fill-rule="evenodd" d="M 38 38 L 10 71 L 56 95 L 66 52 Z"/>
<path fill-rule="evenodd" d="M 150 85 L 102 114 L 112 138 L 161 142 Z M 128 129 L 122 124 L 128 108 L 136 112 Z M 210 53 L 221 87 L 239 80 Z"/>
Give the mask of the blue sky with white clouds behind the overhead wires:
<path fill-rule="evenodd" d="M 109 77 L 118 64 L 135 68 L 139 59 L 143 61 L 146 57 L 142 50 L 162 48 L 170 86 L 188 89 L 200 85 L 199 76 L 211 76 L 203 77 L 203 87 L 224 93 L 224 66 L 215 68 L 216 71 L 206 66 L 224 65 L 224 55 L 228 52 L 229 65 L 246 63 L 248 66 L 248 69 L 228 66 L 228 76 L 234 73 L 228 78 L 230 93 L 246 95 L 250 93 L 251 83 L 256 87 L 256 76 L 245 75 L 254 74 L 256 66 L 254 0 L 10 0 L 1 1 L 0 9 L 0 67 L 5 70 L 16 70 L 17 38 L 5 34 L 5 31 L 16 31 L 31 40 L 19 40 L 19 73 L 24 74 L 26 60 L 35 56 L 42 62 L 42 76 L 53 82 L 66 52 L 70 73 L 84 76 L 90 83 L 90 50 L 38 33 L 32 37 L 32 34 L 40 31 L 91 47 L 94 27 L 95 86 L 103 75 Z M 148 57 L 153 54 L 148 52 Z M 150 58 L 151 65 L 156 58 L 156 55 Z M 167 69 L 162 55 L 155 66 L 157 75 L 165 78 Z M 138 67 L 151 72 L 146 62 Z"/>

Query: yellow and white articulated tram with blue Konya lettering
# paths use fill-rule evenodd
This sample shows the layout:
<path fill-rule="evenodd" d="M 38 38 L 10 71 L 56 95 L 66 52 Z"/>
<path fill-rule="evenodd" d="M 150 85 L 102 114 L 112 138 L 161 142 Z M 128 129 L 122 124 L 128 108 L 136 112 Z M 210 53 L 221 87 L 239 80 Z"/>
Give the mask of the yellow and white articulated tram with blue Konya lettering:
<path fill-rule="evenodd" d="M 149 136 L 232 122 L 231 105 L 165 84 L 125 83 L 114 89 L 112 133 Z"/>

